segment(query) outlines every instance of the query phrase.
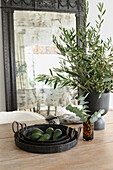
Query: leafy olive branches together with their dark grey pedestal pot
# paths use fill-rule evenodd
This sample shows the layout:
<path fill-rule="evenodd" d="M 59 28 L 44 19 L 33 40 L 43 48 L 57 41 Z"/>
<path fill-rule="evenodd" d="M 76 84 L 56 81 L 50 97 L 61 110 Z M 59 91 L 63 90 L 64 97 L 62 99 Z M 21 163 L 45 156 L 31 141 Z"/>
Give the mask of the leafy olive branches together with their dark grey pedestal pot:
<path fill-rule="evenodd" d="M 38 75 L 37 81 L 45 81 L 45 84 L 54 84 L 58 86 L 69 86 L 79 94 L 89 94 L 86 98 L 88 101 L 90 114 L 99 109 L 104 109 L 105 113 L 109 108 L 109 92 L 113 92 L 113 49 L 112 40 L 107 38 L 106 41 L 101 39 L 100 31 L 104 21 L 103 16 L 106 10 L 104 4 L 99 3 L 98 19 L 95 21 L 96 26 L 87 23 L 88 2 L 85 1 L 85 26 L 80 26 L 78 32 L 72 28 L 67 30 L 62 26 L 59 27 L 61 34 L 60 41 L 53 35 L 53 42 L 62 56 L 60 68 L 50 69 L 50 75 Z M 81 42 L 80 45 L 76 39 Z M 62 43 L 63 42 L 63 43 Z M 93 109 L 92 109 L 93 108 Z M 101 118 L 102 119 L 102 118 Z M 100 123 L 97 129 L 104 129 L 104 122 Z"/>

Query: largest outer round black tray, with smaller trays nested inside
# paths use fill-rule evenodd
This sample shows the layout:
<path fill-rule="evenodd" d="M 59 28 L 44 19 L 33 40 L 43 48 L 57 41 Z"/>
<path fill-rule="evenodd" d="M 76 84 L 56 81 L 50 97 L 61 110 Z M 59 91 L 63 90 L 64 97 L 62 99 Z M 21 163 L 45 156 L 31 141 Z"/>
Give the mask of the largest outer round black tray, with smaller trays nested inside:
<path fill-rule="evenodd" d="M 56 128 L 56 127 L 59 129 L 64 128 L 65 130 L 69 129 L 68 141 L 66 141 L 65 139 L 62 139 L 61 141 L 56 141 L 54 144 L 52 142 L 51 143 L 44 143 L 44 142 L 35 143 L 33 141 L 32 143 L 31 141 L 26 140 L 25 138 L 21 137 L 20 131 L 22 131 L 22 129 L 20 129 L 20 130 L 17 130 L 17 132 L 15 132 L 15 135 L 14 135 L 16 146 L 18 146 L 22 150 L 32 152 L 32 153 L 44 153 L 45 154 L 45 153 L 63 152 L 63 151 L 71 149 L 77 144 L 78 137 L 81 132 L 81 128 L 79 128 L 78 131 L 76 131 L 75 129 L 68 128 L 67 126 L 63 126 L 63 125 L 52 125 L 51 126 L 51 124 L 32 125 L 32 126 L 28 126 L 27 128 L 33 128 L 33 127 L 39 128 L 40 126 L 42 127 L 53 126 L 53 128 Z"/>

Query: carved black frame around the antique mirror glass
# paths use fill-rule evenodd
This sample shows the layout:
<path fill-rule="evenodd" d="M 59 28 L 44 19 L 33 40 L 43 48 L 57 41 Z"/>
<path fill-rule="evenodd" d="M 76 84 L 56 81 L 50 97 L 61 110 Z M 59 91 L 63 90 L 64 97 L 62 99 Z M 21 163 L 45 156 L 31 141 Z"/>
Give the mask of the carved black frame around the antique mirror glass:
<path fill-rule="evenodd" d="M 6 110 L 17 110 L 15 48 L 14 48 L 14 10 L 50 11 L 75 13 L 76 30 L 83 25 L 84 0 L 1 0 L 3 57 L 5 71 Z M 78 43 L 79 40 L 77 40 Z"/>

